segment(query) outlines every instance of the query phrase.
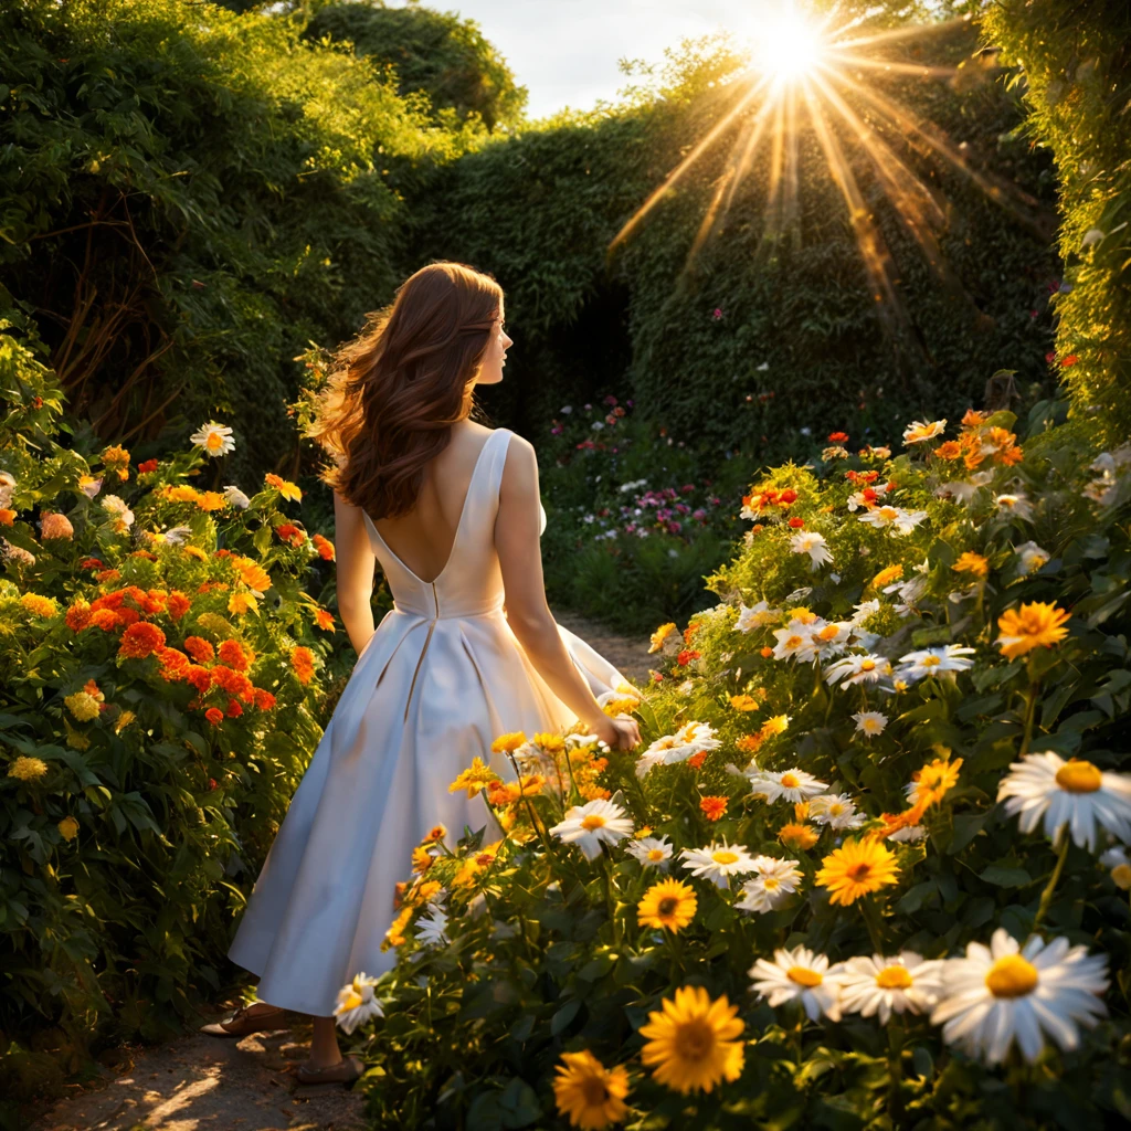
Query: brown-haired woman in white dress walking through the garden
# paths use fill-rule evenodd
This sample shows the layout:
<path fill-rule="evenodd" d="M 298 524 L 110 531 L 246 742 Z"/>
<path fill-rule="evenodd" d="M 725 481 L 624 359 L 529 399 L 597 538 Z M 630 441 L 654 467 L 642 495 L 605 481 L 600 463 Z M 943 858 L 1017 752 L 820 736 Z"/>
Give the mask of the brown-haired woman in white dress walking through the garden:
<path fill-rule="evenodd" d="M 534 449 L 470 420 L 477 385 L 502 380 L 503 295 L 491 277 L 440 262 L 337 357 L 313 435 L 336 456 L 338 611 L 357 663 L 295 792 L 230 951 L 260 975 L 259 1001 L 217 1036 L 278 1028 L 285 1009 L 314 1018 L 303 1082 L 349 1082 L 333 1018 L 354 974 L 381 951 L 414 845 L 438 823 L 484 823 L 449 784 L 512 731 L 580 720 L 612 748 L 637 724 L 597 702 L 620 672 L 559 627 L 546 605 Z M 394 608 L 373 628 L 374 563 Z M 506 598 L 506 606 L 503 601 Z"/>

